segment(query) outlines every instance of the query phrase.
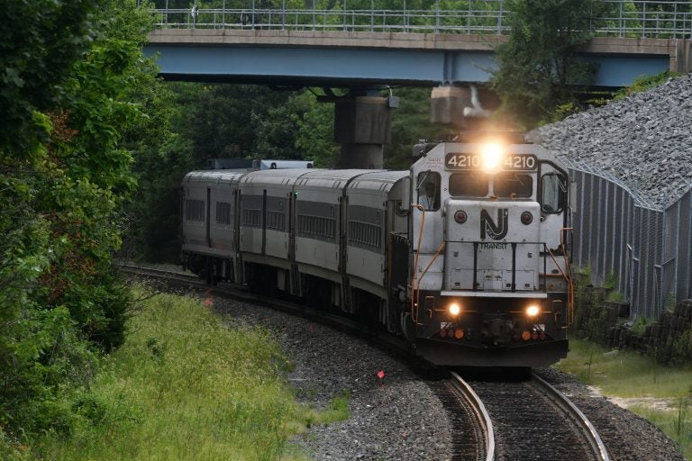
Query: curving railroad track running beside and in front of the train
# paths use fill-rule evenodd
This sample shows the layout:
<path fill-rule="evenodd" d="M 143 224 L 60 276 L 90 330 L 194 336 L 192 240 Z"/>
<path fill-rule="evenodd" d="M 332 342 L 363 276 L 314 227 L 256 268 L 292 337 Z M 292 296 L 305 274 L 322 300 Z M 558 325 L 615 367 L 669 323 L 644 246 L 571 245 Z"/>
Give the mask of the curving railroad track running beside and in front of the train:
<path fill-rule="evenodd" d="M 168 285 L 209 288 L 193 275 L 128 265 L 122 265 L 121 270 Z M 397 353 L 409 351 L 404 342 L 369 330 L 356 321 L 301 304 L 251 294 L 238 285 L 214 286 L 214 294 L 323 321 L 351 334 L 374 338 L 380 346 Z M 521 383 L 475 381 L 468 384 L 453 371 L 449 375 L 442 385 L 432 387 L 448 409 L 454 427 L 453 459 L 609 461 L 603 442 L 584 414 L 540 377 L 533 376 L 532 380 Z"/>

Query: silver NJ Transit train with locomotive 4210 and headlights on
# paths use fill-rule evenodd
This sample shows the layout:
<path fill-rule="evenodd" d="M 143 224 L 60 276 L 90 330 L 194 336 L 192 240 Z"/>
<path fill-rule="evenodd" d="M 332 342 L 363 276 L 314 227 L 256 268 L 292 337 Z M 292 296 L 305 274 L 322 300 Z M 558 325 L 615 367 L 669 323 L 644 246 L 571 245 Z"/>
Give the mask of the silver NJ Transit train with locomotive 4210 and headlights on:
<path fill-rule="evenodd" d="M 523 135 L 414 147 L 406 171 L 192 171 L 182 261 L 404 339 L 440 366 L 548 366 L 568 351 L 568 170 Z"/>

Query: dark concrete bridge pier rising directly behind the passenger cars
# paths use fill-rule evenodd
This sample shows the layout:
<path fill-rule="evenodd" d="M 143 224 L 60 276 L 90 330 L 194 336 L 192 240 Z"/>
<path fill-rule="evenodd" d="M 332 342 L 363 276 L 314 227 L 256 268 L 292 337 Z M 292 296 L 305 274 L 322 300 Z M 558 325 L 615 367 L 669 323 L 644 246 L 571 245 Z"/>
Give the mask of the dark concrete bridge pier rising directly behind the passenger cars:
<path fill-rule="evenodd" d="M 337 168 L 381 168 L 391 140 L 395 97 L 349 95 L 334 104 L 334 140 L 341 144 Z"/>

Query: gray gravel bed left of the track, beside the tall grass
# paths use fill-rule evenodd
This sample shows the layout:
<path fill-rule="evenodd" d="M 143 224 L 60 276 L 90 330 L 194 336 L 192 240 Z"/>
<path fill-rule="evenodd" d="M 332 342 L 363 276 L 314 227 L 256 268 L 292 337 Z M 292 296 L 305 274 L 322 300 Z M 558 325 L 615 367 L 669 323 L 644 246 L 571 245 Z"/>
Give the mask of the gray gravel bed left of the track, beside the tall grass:
<path fill-rule="evenodd" d="M 344 391 L 351 418 L 313 426 L 294 443 L 315 460 L 448 460 L 451 422 L 431 387 L 396 358 L 339 331 L 282 312 L 214 299 L 237 321 L 269 328 L 295 362 L 297 394 L 325 408 Z M 386 376 L 380 381 L 377 374 Z"/>

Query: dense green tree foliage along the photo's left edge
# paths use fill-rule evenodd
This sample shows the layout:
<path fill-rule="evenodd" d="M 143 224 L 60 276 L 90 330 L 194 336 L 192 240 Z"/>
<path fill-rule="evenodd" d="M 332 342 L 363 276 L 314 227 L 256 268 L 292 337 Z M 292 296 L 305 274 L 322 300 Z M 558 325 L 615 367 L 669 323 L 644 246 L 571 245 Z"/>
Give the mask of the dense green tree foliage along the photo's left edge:
<path fill-rule="evenodd" d="M 15 4 L 0 11 L 0 453 L 71 434 L 72 390 L 123 342 L 123 134 L 146 120 L 129 91 L 153 72 L 123 26 L 134 0 Z"/>

